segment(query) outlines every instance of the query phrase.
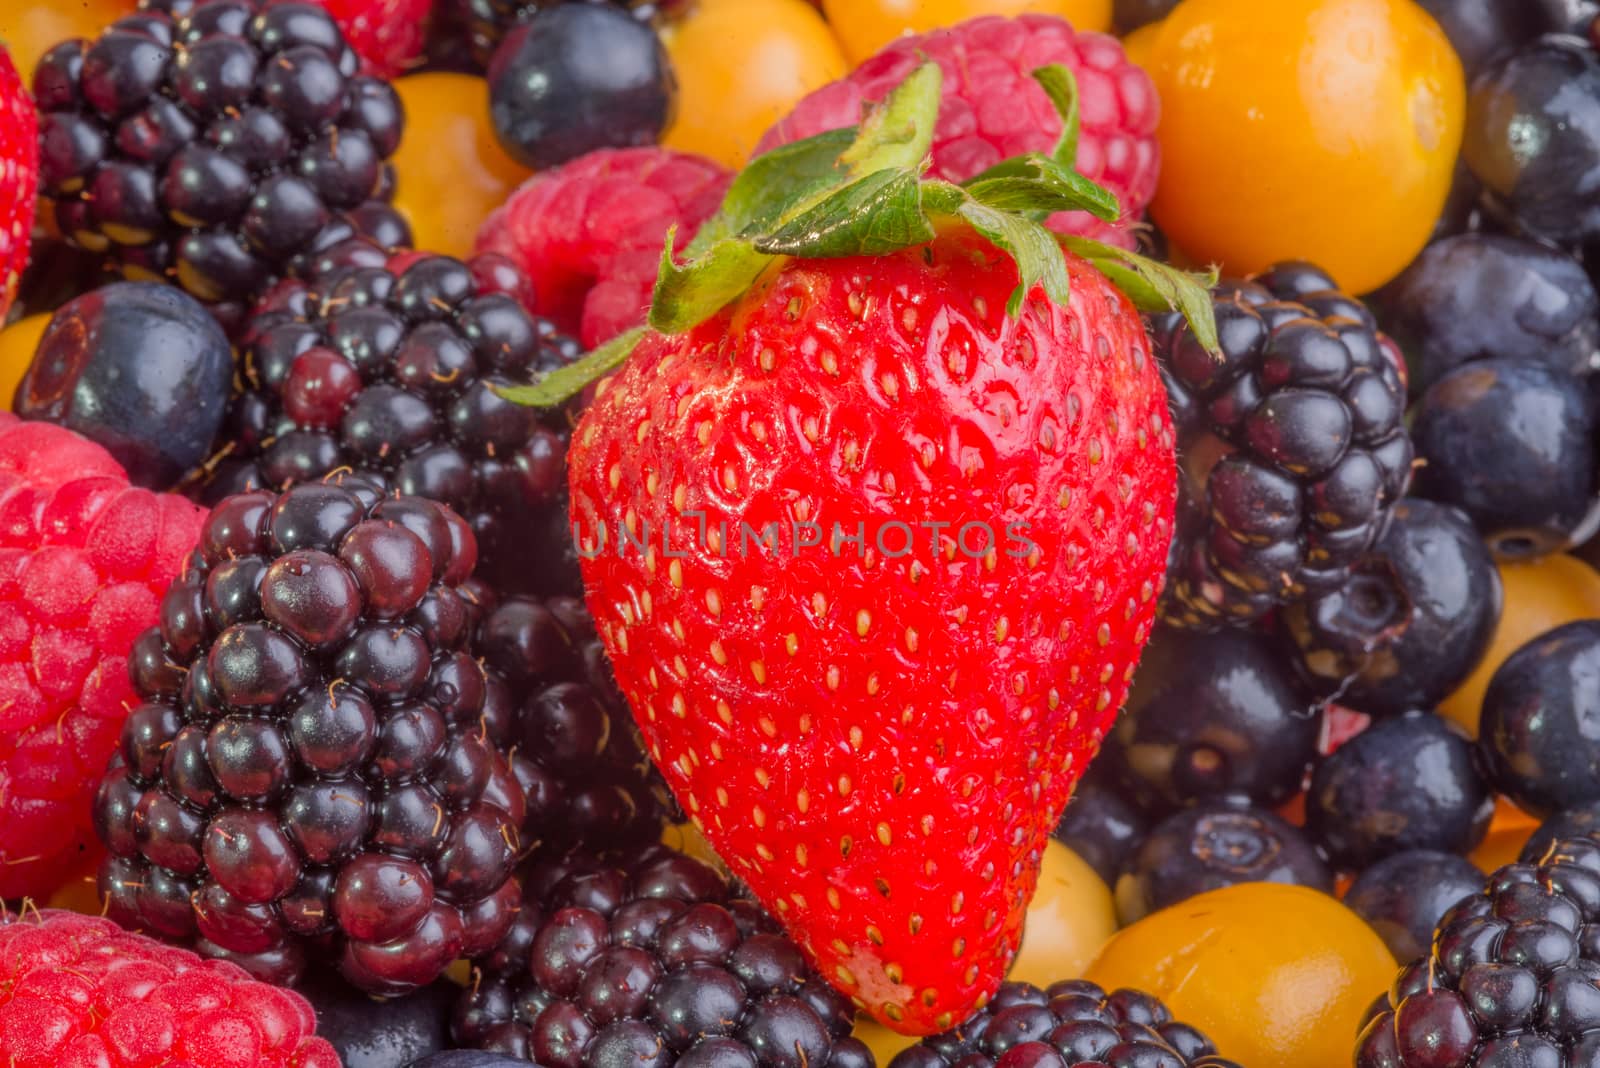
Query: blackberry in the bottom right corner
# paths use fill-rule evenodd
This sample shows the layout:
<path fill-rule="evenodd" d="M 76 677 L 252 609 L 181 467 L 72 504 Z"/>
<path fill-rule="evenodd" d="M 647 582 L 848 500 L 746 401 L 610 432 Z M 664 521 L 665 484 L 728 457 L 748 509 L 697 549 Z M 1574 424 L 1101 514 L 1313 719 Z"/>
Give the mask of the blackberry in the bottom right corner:
<path fill-rule="evenodd" d="M 1357 1068 L 1600 1065 L 1600 839 L 1506 865 L 1440 919 L 1362 1030 Z"/>

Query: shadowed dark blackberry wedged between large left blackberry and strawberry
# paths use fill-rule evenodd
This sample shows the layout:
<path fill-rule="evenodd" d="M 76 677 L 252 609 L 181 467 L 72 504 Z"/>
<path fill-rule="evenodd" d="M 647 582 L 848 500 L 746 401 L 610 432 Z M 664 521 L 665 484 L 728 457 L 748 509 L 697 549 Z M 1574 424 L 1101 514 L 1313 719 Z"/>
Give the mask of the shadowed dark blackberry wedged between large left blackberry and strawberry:
<path fill-rule="evenodd" d="M 490 737 L 528 795 L 525 833 L 544 851 L 614 852 L 659 841 L 670 804 L 578 598 L 477 592 Z"/>

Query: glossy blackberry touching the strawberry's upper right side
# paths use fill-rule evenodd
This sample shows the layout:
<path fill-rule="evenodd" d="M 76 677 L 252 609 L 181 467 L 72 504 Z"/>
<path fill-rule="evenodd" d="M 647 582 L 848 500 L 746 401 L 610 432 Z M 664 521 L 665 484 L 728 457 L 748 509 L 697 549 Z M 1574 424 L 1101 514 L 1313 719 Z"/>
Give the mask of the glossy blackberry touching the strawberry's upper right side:
<path fill-rule="evenodd" d="M 1152 323 L 1178 425 L 1166 622 L 1250 624 L 1338 585 L 1405 494 L 1405 384 L 1371 313 L 1309 264 L 1213 296 L 1221 358 Z"/>

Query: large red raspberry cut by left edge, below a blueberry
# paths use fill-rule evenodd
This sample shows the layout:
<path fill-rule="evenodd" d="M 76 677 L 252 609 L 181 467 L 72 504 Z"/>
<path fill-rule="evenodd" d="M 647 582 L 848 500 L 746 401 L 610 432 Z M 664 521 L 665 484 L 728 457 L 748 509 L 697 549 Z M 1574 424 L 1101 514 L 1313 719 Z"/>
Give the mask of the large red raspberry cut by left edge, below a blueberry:
<path fill-rule="evenodd" d="M 93 843 L 128 651 L 203 515 L 70 430 L 0 412 L 0 897 L 48 895 Z"/>

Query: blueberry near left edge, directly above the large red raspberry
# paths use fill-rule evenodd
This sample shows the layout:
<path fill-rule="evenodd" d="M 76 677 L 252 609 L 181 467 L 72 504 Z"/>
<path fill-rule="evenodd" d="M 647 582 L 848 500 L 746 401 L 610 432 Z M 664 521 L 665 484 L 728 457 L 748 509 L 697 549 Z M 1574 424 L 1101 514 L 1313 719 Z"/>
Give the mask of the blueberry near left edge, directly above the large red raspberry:
<path fill-rule="evenodd" d="M 99 441 L 136 484 L 166 489 L 211 452 L 232 376 L 227 337 L 198 301 L 118 281 L 56 312 L 13 409 Z"/>

